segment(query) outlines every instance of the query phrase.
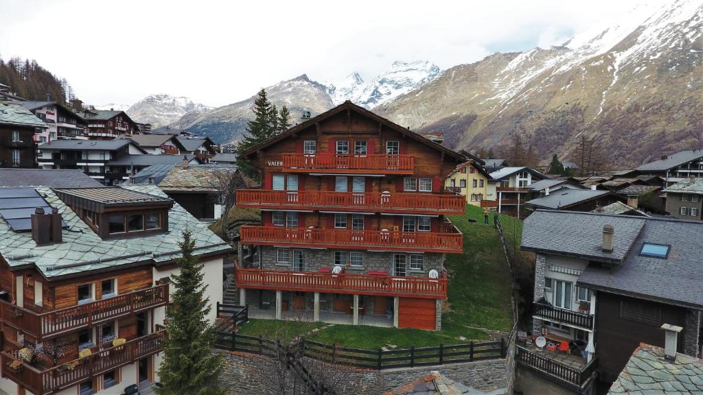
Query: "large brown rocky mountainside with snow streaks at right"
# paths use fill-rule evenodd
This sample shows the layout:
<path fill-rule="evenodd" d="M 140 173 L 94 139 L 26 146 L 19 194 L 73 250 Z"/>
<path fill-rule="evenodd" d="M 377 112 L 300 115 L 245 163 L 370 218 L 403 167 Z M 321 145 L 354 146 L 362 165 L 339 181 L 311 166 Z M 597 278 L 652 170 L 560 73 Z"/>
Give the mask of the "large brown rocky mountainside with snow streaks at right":
<path fill-rule="evenodd" d="M 702 148 L 703 4 L 638 6 L 562 46 L 452 67 L 374 111 L 469 150 L 519 133 L 538 157 L 566 158 L 585 135 L 612 167 Z"/>

